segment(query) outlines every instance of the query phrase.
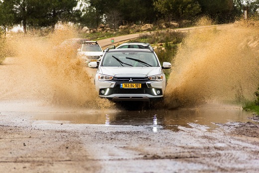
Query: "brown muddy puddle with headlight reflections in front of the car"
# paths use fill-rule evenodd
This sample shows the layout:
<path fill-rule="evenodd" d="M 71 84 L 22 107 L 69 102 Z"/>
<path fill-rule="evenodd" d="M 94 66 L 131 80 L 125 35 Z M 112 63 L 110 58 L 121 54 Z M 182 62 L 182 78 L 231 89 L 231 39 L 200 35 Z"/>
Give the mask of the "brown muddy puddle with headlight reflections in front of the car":
<path fill-rule="evenodd" d="M 248 122 L 253 114 L 240 109 L 179 109 L 179 110 L 142 110 L 104 112 L 58 112 L 38 113 L 34 120 L 67 121 L 70 124 L 103 124 L 150 126 L 153 132 L 157 127 L 177 130 L 178 126 L 191 127 L 199 124 L 211 129 L 218 127 L 214 123 Z"/>

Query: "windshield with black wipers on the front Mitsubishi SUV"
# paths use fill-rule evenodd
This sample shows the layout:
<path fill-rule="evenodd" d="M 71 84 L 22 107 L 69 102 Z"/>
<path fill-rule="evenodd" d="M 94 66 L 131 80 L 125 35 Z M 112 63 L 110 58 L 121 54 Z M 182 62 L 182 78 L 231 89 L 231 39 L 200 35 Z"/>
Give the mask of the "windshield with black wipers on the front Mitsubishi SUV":
<path fill-rule="evenodd" d="M 106 52 L 101 66 L 157 67 L 159 63 L 153 52 Z"/>

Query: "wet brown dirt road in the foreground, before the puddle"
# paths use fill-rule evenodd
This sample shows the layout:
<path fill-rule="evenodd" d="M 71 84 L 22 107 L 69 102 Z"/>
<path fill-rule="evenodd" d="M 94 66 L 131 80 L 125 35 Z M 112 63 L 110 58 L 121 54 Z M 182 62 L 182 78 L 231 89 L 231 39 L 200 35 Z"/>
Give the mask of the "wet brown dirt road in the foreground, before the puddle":
<path fill-rule="evenodd" d="M 53 116 L 62 112 L 76 114 L 83 110 L 61 111 L 24 102 L 12 103 L 16 109 L 8 110 L 9 103 L 0 103 L 1 172 L 259 171 L 258 124 L 229 122 L 210 128 L 188 123 L 188 127 L 175 125 L 177 130 L 165 129 L 159 123 L 138 126 L 70 124 L 62 120 L 35 120 L 34 117 L 43 113 Z M 110 113 L 114 111 L 110 110 Z"/>

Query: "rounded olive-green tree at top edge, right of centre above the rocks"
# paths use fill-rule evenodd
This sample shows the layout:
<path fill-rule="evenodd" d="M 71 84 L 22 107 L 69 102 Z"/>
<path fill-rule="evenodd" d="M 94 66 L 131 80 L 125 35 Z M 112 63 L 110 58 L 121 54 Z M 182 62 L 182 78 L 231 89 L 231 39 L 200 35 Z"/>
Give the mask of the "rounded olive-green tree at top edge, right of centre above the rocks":
<path fill-rule="evenodd" d="M 196 0 L 155 0 L 154 7 L 169 20 L 191 19 L 201 11 Z"/>

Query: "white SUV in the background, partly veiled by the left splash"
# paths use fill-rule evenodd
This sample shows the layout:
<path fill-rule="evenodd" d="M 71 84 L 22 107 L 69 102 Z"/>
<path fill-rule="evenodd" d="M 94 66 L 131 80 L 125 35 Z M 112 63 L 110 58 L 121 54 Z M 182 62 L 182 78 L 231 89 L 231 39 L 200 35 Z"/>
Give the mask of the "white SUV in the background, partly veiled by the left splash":
<path fill-rule="evenodd" d="M 85 63 L 92 61 L 99 63 L 103 56 L 103 50 L 97 41 L 84 41 L 77 51 L 77 56 L 82 58 Z"/>

